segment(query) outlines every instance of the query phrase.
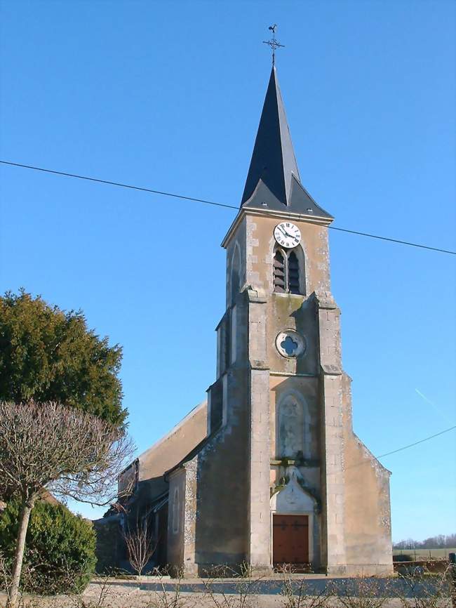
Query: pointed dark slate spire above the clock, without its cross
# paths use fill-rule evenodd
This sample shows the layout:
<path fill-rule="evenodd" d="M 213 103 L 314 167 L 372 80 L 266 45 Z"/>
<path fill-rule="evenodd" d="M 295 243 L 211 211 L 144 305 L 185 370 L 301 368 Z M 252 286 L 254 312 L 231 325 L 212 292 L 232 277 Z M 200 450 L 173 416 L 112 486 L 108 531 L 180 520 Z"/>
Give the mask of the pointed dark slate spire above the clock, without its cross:
<path fill-rule="evenodd" d="M 274 65 L 241 206 L 332 218 L 301 184 Z"/>

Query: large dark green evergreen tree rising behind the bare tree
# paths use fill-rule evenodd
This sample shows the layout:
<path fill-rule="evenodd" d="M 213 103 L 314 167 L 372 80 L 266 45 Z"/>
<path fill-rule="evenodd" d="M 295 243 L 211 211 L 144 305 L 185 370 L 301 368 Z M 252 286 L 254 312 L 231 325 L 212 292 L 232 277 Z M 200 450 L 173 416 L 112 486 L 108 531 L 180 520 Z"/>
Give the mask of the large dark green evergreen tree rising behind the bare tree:
<path fill-rule="evenodd" d="M 0 296 L 0 401 L 55 401 L 123 425 L 122 351 L 64 312 L 21 290 Z"/>

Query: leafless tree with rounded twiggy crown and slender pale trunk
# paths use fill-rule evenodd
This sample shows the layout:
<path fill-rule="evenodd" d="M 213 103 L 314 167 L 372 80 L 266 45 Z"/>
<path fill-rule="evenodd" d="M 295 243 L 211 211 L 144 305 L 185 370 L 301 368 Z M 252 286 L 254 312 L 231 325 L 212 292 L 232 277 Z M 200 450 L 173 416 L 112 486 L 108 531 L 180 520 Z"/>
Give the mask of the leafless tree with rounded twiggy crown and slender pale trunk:
<path fill-rule="evenodd" d="M 29 517 L 46 491 L 104 505 L 133 452 L 123 428 L 55 402 L 0 402 L 0 496 L 22 501 L 8 607 L 18 602 Z"/>

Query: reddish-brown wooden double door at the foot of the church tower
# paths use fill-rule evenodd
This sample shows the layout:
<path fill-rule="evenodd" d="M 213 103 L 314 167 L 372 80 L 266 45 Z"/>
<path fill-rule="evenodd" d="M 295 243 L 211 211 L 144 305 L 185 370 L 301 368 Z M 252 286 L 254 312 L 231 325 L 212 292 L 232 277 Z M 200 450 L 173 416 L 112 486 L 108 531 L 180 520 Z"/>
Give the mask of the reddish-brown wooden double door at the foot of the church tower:
<path fill-rule="evenodd" d="M 309 563 L 309 515 L 273 515 L 272 561 Z"/>

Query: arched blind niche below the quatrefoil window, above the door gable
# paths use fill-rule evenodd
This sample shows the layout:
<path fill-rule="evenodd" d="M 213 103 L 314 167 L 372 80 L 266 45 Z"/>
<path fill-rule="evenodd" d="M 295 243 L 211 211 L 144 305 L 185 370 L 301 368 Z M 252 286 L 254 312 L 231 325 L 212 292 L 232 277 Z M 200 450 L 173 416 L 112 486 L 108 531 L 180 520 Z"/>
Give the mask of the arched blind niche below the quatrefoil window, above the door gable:
<path fill-rule="evenodd" d="M 288 395 L 279 404 L 279 457 L 293 458 L 304 453 L 304 419 L 302 404 Z"/>

